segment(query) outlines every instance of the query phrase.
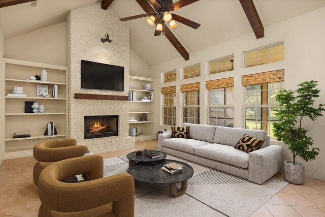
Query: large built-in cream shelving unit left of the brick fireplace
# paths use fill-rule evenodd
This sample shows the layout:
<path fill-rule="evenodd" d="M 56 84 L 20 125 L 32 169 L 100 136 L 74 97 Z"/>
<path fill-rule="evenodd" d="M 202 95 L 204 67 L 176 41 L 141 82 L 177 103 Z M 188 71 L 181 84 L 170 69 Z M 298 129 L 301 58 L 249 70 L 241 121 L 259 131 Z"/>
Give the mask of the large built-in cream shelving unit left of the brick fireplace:
<path fill-rule="evenodd" d="M 68 135 L 68 67 L 3 58 L 0 77 L 0 147 L 3 159 L 32 155 L 32 148 L 40 141 L 63 139 Z M 46 81 L 28 80 L 30 76 L 47 72 Z M 37 85 L 48 85 L 51 95 L 58 85 L 58 98 L 37 97 Z M 26 97 L 8 97 L 13 86 L 23 87 Z M 44 113 L 24 113 L 25 101 L 44 105 Z M 55 122 L 57 135 L 44 136 L 47 122 Z M 30 137 L 13 138 L 15 132 L 30 132 Z"/>

